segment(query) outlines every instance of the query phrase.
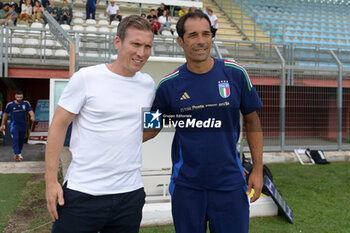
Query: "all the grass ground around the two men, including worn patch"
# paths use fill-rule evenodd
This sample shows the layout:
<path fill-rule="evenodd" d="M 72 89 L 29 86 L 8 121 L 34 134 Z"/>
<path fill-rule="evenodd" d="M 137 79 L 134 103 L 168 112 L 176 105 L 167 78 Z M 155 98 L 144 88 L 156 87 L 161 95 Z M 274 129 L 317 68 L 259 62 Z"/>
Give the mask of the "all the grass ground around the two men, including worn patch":
<path fill-rule="evenodd" d="M 250 220 L 250 233 L 350 232 L 350 163 L 314 166 L 269 164 L 268 167 L 276 188 L 293 210 L 294 224 L 288 223 L 283 216 L 253 218 Z M 29 181 L 25 186 L 30 177 L 0 175 L 0 232 L 21 198 L 17 211 L 30 210 L 35 215 L 34 219 L 28 221 L 29 229 L 50 220 L 44 203 L 43 180 Z M 21 189 L 24 189 L 22 196 Z M 26 204 L 22 206 L 23 203 Z M 50 232 L 50 228 L 47 225 L 33 232 L 46 233 Z M 145 227 L 140 230 L 140 233 L 174 232 L 173 226 Z"/>

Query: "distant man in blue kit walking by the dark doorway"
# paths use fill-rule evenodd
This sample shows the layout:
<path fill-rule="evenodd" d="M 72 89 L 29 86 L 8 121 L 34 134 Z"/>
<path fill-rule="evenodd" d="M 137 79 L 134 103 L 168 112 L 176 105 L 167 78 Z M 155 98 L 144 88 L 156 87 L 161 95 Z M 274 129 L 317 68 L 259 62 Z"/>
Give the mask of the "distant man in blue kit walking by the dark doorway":
<path fill-rule="evenodd" d="M 0 131 L 5 127 L 5 122 L 8 114 L 11 114 L 11 137 L 12 148 L 15 154 L 14 159 L 19 162 L 23 159 L 22 148 L 24 143 L 24 136 L 27 132 L 27 112 L 30 115 L 30 120 L 34 122 L 35 115 L 30 106 L 30 103 L 23 100 L 23 92 L 16 91 L 15 100 L 6 105 L 4 115 L 2 117 Z"/>

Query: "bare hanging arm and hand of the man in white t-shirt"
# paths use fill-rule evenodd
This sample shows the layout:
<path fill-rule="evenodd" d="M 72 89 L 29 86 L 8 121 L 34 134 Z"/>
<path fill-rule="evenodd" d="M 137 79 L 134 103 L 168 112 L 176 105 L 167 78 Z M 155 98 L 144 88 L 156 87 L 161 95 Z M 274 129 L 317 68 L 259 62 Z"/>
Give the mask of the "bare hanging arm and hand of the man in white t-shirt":
<path fill-rule="evenodd" d="M 74 117 L 75 114 L 57 106 L 47 137 L 45 152 L 46 203 L 54 221 L 58 219 L 57 199 L 59 205 L 64 205 L 62 187 L 57 179 L 58 163 L 67 128 Z"/>

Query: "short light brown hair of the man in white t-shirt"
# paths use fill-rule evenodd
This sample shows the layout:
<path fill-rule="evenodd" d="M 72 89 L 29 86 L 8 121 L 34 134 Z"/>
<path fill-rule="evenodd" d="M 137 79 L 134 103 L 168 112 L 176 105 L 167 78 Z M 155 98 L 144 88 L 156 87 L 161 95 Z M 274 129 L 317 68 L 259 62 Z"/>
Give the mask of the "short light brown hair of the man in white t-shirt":
<path fill-rule="evenodd" d="M 152 25 L 146 19 L 139 15 L 130 15 L 123 18 L 123 20 L 118 24 L 117 36 L 121 41 L 125 39 L 126 30 L 130 27 L 153 33 Z"/>

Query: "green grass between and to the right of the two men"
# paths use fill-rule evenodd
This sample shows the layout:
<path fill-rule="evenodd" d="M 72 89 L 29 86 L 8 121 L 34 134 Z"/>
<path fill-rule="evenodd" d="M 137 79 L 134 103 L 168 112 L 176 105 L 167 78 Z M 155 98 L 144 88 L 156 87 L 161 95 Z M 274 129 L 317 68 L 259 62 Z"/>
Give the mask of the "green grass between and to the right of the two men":
<path fill-rule="evenodd" d="M 276 188 L 291 207 L 294 224 L 283 216 L 253 218 L 250 233 L 349 233 L 350 163 L 302 166 L 269 164 Z M 173 233 L 173 226 L 141 233 Z"/>

